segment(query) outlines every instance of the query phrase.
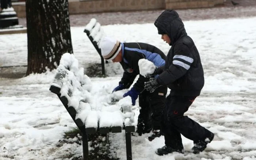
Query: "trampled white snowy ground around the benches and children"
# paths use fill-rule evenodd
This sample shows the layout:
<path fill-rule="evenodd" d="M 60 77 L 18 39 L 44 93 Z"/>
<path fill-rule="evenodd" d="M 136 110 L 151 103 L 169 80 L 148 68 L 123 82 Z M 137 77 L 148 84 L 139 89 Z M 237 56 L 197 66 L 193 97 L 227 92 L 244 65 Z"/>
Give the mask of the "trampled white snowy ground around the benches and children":
<path fill-rule="evenodd" d="M 184 22 L 200 52 L 206 82 L 186 114 L 216 136 L 199 155 L 188 152 L 192 141 L 182 137 L 187 151 L 184 156 L 157 156 L 154 151 L 164 145 L 163 137 L 152 142 L 146 139 L 148 134 L 132 137 L 134 160 L 256 159 L 255 21 L 256 17 Z M 152 23 L 116 24 L 103 29 L 121 41 L 150 43 L 166 54 L 169 50 Z M 71 34 L 80 66 L 100 63 L 83 27 L 72 27 Z M 26 39 L 26 34 L 0 36 L 0 66 L 27 64 Z M 75 124 L 57 96 L 49 91 L 54 73 L 0 79 L 0 160 L 68 160 L 63 157 L 69 152 L 82 155 L 82 146 L 76 143 L 56 146 Z M 106 73 L 106 78 L 91 78 L 92 92 L 102 93 L 95 97 L 98 103 L 122 76 L 119 64 L 107 64 Z M 117 157 L 126 159 L 124 133 L 110 134 L 110 141 Z"/>

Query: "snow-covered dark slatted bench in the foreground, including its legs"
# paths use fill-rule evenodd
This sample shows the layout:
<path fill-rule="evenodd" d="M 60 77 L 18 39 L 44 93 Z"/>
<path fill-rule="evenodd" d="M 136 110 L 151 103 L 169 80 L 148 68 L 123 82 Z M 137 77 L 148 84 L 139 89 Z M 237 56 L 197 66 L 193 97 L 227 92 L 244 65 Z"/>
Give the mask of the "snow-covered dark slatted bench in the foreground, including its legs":
<path fill-rule="evenodd" d="M 131 160 L 131 132 L 135 132 L 131 98 L 123 98 L 124 93 L 106 93 L 99 103 L 95 101 L 100 97 L 91 93 L 91 89 L 90 78 L 84 75 L 83 68 L 78 67 L 74 54 L 63 54 L 50 91 L 57 94 L 81 130 L 84 159 L 89 156 L 87 134 L 94 134 L 98 129 L 101 134 L 118 133 L 124 129 L 127 159 Z"/>

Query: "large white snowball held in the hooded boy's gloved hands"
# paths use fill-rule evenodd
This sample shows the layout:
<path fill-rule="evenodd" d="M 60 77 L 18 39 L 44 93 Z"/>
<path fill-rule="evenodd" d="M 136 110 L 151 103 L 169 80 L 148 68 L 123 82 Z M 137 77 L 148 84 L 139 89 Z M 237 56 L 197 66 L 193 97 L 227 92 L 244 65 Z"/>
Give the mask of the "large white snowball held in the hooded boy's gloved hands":
<path fill-rule="evenodd" d="M 155 65 L 153 62 L 146 59 L 140 59 L 139 62 L 140 75 L 146 77 L 147 74 L 153 74 L 155 71 Z"/>

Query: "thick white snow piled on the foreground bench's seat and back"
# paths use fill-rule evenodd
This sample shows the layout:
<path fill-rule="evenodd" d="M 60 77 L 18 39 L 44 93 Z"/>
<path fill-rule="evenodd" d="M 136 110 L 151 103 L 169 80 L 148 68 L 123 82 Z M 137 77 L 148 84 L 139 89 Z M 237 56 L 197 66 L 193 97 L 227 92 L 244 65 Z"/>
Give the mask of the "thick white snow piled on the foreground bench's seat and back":
<path fill-rule="evenodd" d="M 60 97 L 66 99 L 70 113 L 75 114 L 79 126 L 97 129 L 98 125 L 100 128 L 136 125 L 132 111 L 136 106 L 132 108 L 129 96 L 123 98 L 127 89 L 107 93 L 100 98 L 103 99 L 101 103 L 95 103 L 98 95 L 91 93 L 92 82 L 84 75 L 84 69 L 79 68 L 74 54 L 63 54 L 57 72 L 62 76 L 55 78 L 51 85 L 60 88 Z M 113 104 L 113 100 L 118 102 Z"/>

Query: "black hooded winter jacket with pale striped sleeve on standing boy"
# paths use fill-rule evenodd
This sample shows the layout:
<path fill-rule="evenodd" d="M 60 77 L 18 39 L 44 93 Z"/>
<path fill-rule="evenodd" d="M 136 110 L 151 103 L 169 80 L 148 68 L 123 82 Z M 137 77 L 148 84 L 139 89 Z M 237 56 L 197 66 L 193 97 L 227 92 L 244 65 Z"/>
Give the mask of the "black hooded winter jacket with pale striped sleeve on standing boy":
<path fill-rule="evenodd" d="M 160 34 L 171 39 L 165 66 L 157 81 L 171 89 L 171 95 L 199 96 L 204 86 L 204 72 L 198 50 L 187 35 L 184 24 L 174 10 L 166 10 L 155 20 Z"/>

